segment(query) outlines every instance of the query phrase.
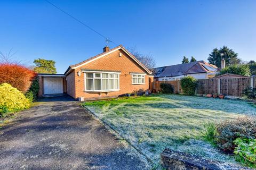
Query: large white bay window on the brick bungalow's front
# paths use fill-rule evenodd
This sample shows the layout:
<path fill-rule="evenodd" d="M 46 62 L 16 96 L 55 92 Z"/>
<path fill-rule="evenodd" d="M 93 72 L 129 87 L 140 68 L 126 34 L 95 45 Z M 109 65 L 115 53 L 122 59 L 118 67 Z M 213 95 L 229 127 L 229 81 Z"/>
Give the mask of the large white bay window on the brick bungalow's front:
<path fill-rule="evenodd" d="M 85 91 L 119 90 L 119 73 L 84 72 Z"/>

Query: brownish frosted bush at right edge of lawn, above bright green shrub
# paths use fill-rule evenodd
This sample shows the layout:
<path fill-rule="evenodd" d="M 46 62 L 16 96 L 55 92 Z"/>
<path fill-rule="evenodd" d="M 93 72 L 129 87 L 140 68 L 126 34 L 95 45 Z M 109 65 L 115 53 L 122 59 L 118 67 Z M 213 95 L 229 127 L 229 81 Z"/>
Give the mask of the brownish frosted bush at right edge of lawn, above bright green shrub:
<path fill-rule="evenodd" d="M 223 151 L 233 153 L 234 140 L 237 138 L 254 139 L 256 137 L 256 118 L 238 117 L 235 120 L 223 121 L 217 125 L 217 145 Z"/>

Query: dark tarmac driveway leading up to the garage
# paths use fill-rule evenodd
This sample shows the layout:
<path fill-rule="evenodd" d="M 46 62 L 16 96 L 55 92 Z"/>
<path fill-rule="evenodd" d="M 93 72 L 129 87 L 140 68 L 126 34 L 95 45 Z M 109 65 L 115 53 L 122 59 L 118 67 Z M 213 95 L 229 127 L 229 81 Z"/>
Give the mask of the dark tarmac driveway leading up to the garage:
<path fill-rule="evenodd" d="M 44 99 L 0 130 L 0 169 L 149 168 L 138 152 L 68 100 Z"/>

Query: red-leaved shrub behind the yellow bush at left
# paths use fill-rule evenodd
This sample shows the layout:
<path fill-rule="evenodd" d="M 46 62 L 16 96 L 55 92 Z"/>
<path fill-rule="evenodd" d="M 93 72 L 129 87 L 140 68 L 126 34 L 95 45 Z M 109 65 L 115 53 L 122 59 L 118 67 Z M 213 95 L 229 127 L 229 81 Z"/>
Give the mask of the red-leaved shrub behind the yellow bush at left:
<path fill-rule="evenodd" d="M 0 84 L 9 83 L 25 93 L 35 78 L 36 73 L 17 63 L 0 63 Z"/>

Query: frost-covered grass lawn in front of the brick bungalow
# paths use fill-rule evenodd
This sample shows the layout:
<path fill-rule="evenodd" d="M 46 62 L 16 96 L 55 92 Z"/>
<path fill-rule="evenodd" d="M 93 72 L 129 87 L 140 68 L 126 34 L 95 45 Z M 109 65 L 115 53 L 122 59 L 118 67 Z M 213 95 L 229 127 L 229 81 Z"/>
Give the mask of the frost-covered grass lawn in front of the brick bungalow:
<path fill-rule="evenodd" d="M 204 123 L 242 115 L 256 115 L 256 107 L 242 100 L 180 95 L 90 101 L 82 104 L 107 122 L 157 166 L 169 147 L 206 158 L 234 162 L 203 140 Z"/>

